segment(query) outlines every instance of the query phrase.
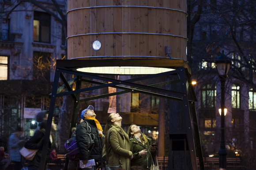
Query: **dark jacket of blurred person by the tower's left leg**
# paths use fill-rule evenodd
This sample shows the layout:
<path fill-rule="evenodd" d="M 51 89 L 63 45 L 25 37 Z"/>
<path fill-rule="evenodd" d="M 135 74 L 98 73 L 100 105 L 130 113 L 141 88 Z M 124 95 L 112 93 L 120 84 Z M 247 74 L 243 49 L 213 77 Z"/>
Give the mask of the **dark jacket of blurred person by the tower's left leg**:
<path fill-rule="evenodd" d="M 34 136 L 32 136 L 25 143 L 24 147 L 27 148 L 27 149 L 39 149 L 38 152 L 36 153 L 34 159 L 31 160 L 31 161 L 28 161 L 28 166 L 39 167 L 40 160 L 41 160 L 41 154 L 42 154 L 42 148 L 43 148 L 43 144 L 45 142 L 45 137 L 44 136 L 45 136 L 45 130 L 37 130 L 34 133 Z M 38 143 L 39 143 L 39 141 L 41 140 L 42 137 L 44 137 L 44 139 L 41 142 L 41 144 L 38 145 Z M 50 152 L 51 152 L 51 142 L 49 141 L 48 149 L 47 149 L 47 155 L 46 155 L 46 161 L 45 161 L 45 169 L 47 169 L 46 163 L 48 163 L 48 161 L 49 161 Z"/>

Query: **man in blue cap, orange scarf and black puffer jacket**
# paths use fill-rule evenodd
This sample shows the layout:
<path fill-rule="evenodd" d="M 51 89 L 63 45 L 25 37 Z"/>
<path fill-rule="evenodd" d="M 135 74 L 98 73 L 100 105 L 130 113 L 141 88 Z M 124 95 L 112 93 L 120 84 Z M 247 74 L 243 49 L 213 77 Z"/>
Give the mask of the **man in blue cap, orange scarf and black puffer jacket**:
<path fill-rule="evenodd" d="M 94 159 L 95 166 L 91 168 L 83 168 L 85 170 L 101 170 L 102 169 L 102 126 L 97 119 L 95 119 L 96 113 L 94 107 L 89 105 L 87 109 L 81 112 L 81 118 L 83 121 L 76 127 L 76 141 L 79 148 L 79 160 L 85 165 L 90 159 Z M 90 128 L 90 134 L 87 131 L 87 123 Z M 93 144 L 90 145 L 89 137 L 93 138 Z"/>

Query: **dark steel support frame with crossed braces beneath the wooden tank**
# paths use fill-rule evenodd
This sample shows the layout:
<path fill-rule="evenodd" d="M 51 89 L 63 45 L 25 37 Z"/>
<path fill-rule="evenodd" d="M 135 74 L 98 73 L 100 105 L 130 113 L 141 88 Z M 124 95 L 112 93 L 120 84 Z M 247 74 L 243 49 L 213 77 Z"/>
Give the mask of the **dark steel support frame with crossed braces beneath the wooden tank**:
<path fill-rule="evenodd" d="M 136 61 L 136 62 L 135 62 Z M 148 67 L 164 67 L 164 68 L 174 68 L 174 71 L 169 71 L 169 72 L 163 72 L 163 73 L 158 73 L 158 74 L 153 74 L 153 75 L 146 75 L 142 76 L 139 78 L 134 78 L 134 79 L 129 79 L 129 80 L 116 80 L 116 79 L 110 79 L 102 76 L 98 76 L 97 74 L 89 74 L 85 72 L 78 72 L 75 71 L 74 69 L 81 67 L 83 65 L 82 63 L 86 63 L 86 66 L 148 66 Z M 173 62 L 175 62 L 173 64 Z M 114 64 L 113 64 L 114 63 Z M 138 63 L 144 63 L 143 65 L 138 65 Z M 170 66 L 172 65 L 172 66 Z M 85 66 L 85 65 L 83 65 Z M 111 62 L 111 60 L 105 60 L 105 61 L 84 61 L 84 60 L 57 60 L 57 65 L 56 65 L 56 72 L 55 72 L 55 77 L 54 77 L 54 83 L 53 83 L 53 91 L 51 93 L 51 101 L 50 101 L 50 107 L 49 107 L 49 115 L 47 119 L 47 128 L 45 132 L 45 137 L 46 140 L 43 145 L 43 151 L 42 151 L 42 156 L 41 156 L 41 162 L 40 162 L 40 168 L 39 170 L 44 170 L 45 168 L 45 159 L 46 159 L 46 152 L 48 148 L 48 142 L 49 142 L 49 135 L 50 135 L 50 130 L 51 130 L 51 124 L 53 120 L 53 111 L 54 111 L 54 105 L 56 101 L 56 97 L 61 97 L 61 96 L 66 96 L 66 95 L 72 95 L 73 101 L 74 101 L 74 107 L 73 107 L 73 114 L 72 114 L 72 122 L 71 122 L 71 127 L 75 126 L 75 119 L 76 119 L 76 114 L 78 112 L 78 104 L 81 101 L 90 101 L 98 98 L 105 98 L 117 94 L 124 94 L 124 93 L 129 93 L 129 92 L 138 92 L 142 94 L 148 94 L 152 96 L 157 96 L 160 98 L 167 98 L 167 99 L 172 99 L 172 100 L 177 100 L 181 101 L 184 105 L 184 114 L 186 118 L 186 128 L 187 128 L 187 142 L 188 142 L 188 148 L 189 152 L 191 155 L 191 162 L 192 162 L 192 168 L 193 170 L 197 170 L 197 163 L 196 163 L 196 150 L 195 150 L 195 142 L 196 142 L 196 148 L 197 148 L 197 154 L 199 157 L 199 162 L 200 162 L 200 169 L 204 170 L 204 164 L 203 164 L 203 153 L 202 153 L 202 148 L 201 148 L 201 142 L 200 142 L 200 135 L 199 135 L 199 129 L 198 129 L 198 123 L 197 123 L 197 117 L 196 117 L 196 107 L 195 107 L 195 101 L 196 100 L 196 95 L 192 87 L 192 81 L 191 81 L 191 76 L 190 76 L 190 70 L 186 63 L 184 61 L 158 61 L 158 60 L 144 60 L 143 62 L 139 62 L 138 60 L 120 60 L 119 63 L 117 63 L 117 60 L 115 62 Z M 66 80 L 64 74 L 72 74 L 75 75 L 71 80 Z M 138 83 L 133 83 L 138 80 L 147 80 L 147 79 L 152 79 L 152 78 L 157 78 L 160 76 L 169 76 L 169 75 L 178 75 L 179 80 L 173 80 L 169 82 L 161 82 L 157 84 L 151 84 L 151 85 L 142 85 Z M 88 80 L 88 79 L 83 79 L 83 77 L 86 78 L 91 78 L 94 80 Z M 62 80 L 64 85 L 60 86 L 58 88 L 59 84 L 59 79 Z M 112 83 L 102 83 L 98 82 L 95 80 L 103 80 L 107 82 L 112 82 Z M 94 87 L 88 87 L 81 89 L 81 82 L 88 82 L 88 83 L 94 83 L 98 84 L 98 86 Z M 76 82 L 76 89 L 72 90 L 70 85 L 72 83 Z M 172 91 L 172 90 L 166 90 L 162 88 L 158 88 L 159 86 L 162 85 L 167 85 L 167 84 L 173 84 L 173 83 L 180 83 L 179 87 L 181 87 L 181 92 L 177 91 Z M 127 85 L 131 86 L 130 87 L 122 87 L 120 85 Z M 90 91 L 90 90 L 95 90 L 95 89 L 101 89 L 104 87 L 114 87 L 117 89 L 121 89 L 122 91 L 118 91 L 112 94 L 102 94 L 90 98 L 85 98 L 85 99 L 79 99 L 80 93 L 85 92 L 85 91 Z M 62 90 L 68 90 L 67 92 L 61 92 Z M 154 92 L 152 92 L 154 91 Z M 173 97 L 179 96 L 179 97 Z M 193 123 L 193 124 L 192 124 Z M 195 138 L 194 138 L 195 136 Z"/>

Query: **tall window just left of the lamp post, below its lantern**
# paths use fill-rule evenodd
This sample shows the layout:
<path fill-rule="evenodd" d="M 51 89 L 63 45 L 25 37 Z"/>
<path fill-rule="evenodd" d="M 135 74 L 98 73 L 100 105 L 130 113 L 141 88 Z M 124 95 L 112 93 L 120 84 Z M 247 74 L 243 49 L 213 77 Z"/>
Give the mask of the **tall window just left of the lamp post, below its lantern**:
<path fill-rule="evenodd" d="M 214 84 L 206 84 L 202 87 L 202 108 L 215 108 L 216 105 L 216 86 Z"/>

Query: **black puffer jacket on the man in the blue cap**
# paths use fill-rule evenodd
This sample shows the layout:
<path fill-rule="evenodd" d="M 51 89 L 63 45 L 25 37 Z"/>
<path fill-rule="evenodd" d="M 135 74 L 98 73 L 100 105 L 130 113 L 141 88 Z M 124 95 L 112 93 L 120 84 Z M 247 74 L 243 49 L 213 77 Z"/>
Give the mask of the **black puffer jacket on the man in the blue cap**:
<path fill-rule="evenodd" d="M 99 137 L 96 123 L 94 120 L 91 119 L 85 119 L 84 121 L 88 122 L 88 126 L 91 128 L 91 134 L 94 135 L 94 148 L 91 152 L 89 151 L 86 123 L 81 122 L 76 127 L 76 141 L 79 147 L 80 160 L 94 159 L 97 167 L 102 168 L 102 142 L 101 138 Z"/>

